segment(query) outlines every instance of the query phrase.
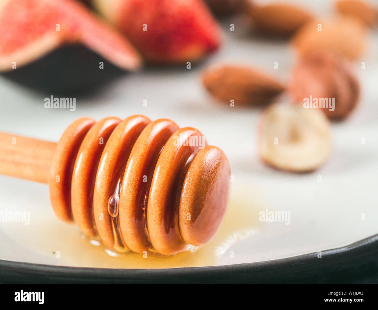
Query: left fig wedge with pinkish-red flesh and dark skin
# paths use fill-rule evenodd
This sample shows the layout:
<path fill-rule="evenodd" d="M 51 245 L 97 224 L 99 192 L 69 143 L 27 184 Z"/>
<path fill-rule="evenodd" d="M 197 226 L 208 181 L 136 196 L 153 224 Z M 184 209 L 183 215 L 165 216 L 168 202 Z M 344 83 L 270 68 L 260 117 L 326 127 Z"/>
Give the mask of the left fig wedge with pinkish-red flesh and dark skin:
<path fill-rule="evenodd" d="M 133 70 L 141 64 L 138 52 L 122 34 L 73 0 L 2 0 L 0 30 L 0 72 L 15 80 L 36 80 L 42 89 L 89 86 L 96 79 L 108 77 L 111 69 Z M 86 48 L 78 48 L 80 45 Z M 84 54 L 76 55 L 69 46 Z M 56 50 L 60 51 L 54 55 Z M 37 60 L 41 60 L 37 66 L 26 68 Z M 104 69 L 112 64 L 107 73 L 101 71 L 100 61 Z M 79 63 L 79 68 L 70 66 L 72 62 Z M 23 67 L 28 69 L 24 73 Z M 48 87 L 39 77 L 50 82 Z"/>

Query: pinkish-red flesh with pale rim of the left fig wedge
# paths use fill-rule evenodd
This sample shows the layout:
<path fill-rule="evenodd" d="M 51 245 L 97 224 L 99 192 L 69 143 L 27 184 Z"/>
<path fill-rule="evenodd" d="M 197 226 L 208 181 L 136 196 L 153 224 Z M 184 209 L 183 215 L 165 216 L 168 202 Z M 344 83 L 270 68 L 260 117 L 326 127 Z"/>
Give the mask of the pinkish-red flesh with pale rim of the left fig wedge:
<path fill-rule="evenodd" d="M 81 43 L 122 69 L 141 64 L 127 39 L 73 0 L 0 0 L 0 31 L 0 71 L 67 43 Z"/>

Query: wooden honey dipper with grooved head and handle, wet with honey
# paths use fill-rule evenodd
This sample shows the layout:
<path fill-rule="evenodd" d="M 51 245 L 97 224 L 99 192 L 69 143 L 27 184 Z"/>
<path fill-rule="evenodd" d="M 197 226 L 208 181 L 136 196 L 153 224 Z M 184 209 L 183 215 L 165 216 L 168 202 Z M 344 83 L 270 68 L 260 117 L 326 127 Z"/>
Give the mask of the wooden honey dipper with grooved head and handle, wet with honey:
<path fill-rule="evenodd" d="M 0 173 L 48 183 L 58 218 L 118 252 L 203 245 L 225 214 L 225 154 L 168 119 L 84 117 L 58 143 L 0 132 L 0 145 Z"/>

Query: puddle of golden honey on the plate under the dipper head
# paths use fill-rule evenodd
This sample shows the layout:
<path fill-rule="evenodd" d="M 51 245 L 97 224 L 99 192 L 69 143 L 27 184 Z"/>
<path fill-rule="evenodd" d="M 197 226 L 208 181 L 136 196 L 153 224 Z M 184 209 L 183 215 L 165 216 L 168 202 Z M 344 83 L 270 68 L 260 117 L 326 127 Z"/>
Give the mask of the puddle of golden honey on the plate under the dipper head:
<path fill-rule="evenodd" d="M 94 268 L 214 266 L 223 260 L 233 263 L 229 253 L 234 251 L 233 247 L 240 239 L 253 238 L 259 233 L 258 213 L 266 207 L 260 202 L 257 192 L 252 193 L 250 189 L 248 191 L 248 198 L 243 196 L 242 190 L 231 191 L 231 201 L 225 218 L 211 241 L 201 247 L 191 247 L 189 251 L 167 257 L 111 251 L 99 240 L 85 237 L 76 225 L 59 221 L 52 210 L 33 213 L 30 225 L 14 223 L 12 227 L 6 226 L 9 229 L 4 232 L 16 243 L 42 255 L 38 260 L 31 260 L 34 263 Z M 57 251 L 60 257 L 56 257 Z M 235 251 L 235 257 L 238 254 Z"/>

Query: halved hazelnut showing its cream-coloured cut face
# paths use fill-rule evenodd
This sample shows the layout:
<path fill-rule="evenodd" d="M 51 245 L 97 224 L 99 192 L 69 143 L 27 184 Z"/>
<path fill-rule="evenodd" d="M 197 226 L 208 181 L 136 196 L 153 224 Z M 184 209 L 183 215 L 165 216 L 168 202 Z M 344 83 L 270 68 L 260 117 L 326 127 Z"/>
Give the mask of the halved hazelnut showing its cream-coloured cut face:
<path fill-rule="evenodd" d="M 313 171 L 330 156 L 330 136 L 330 123 L 319 109 L 273 104 L 262 117 L 260 156 L 280 170 Z"/>

